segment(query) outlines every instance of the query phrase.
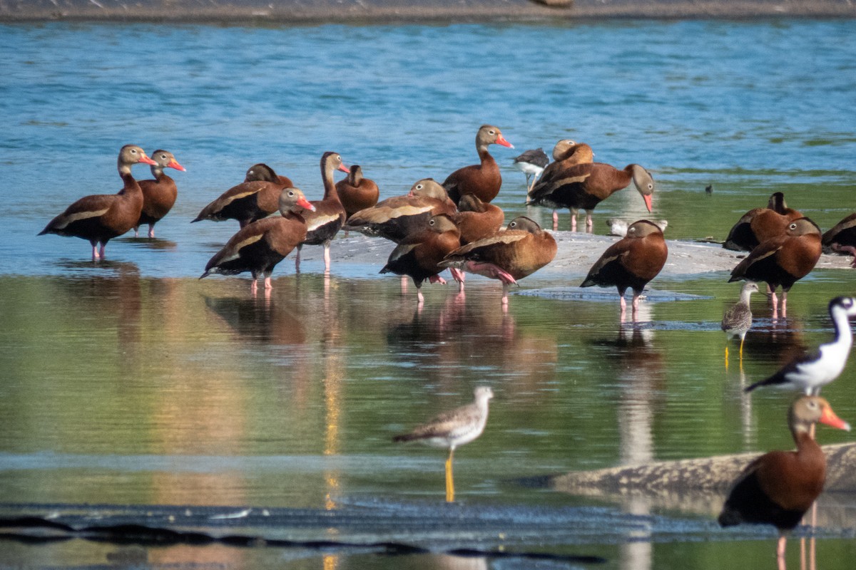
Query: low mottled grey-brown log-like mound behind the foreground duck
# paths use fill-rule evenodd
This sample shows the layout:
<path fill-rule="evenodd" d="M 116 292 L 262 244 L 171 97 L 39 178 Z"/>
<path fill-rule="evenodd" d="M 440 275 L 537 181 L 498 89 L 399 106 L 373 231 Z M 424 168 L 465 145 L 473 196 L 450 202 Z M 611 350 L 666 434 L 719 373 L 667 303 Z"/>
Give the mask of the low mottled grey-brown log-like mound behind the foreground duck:
<path fill-rule="evenodd" d="M 823 445 L 826 491 L 856 492 L 856 443 Z M 547 478 L 548 486 L 576 495 L 629 495 L 708 492 L 724 494 L 760 453 L 717 455 L 610 467 Z"/>

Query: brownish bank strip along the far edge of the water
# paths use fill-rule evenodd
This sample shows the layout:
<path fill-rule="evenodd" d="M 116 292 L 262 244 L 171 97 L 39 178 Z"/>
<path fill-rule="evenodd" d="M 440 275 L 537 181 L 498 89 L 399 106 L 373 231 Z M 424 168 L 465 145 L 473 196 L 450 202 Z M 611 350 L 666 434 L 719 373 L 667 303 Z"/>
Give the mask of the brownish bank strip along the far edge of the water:
<path fill-rule="evenodd" d="M 849 0 L 0 0 L 0 21 L 313 24 L 856 17 Z"/>

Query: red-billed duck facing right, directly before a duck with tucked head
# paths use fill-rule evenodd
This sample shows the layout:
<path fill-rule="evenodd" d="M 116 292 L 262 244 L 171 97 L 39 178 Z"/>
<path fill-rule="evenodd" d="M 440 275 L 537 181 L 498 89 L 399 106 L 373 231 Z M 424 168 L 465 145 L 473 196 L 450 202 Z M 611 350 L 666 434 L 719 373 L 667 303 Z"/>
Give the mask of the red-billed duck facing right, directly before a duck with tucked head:
<path fill-rule="evenodd" d="M 229 238 L 205 265 L 205 273 L 199 279 L 211 273 L 236 275 L 249 271 L 253 273 L 253 293 L 259 289 L 259 278 L 265 279 L 265 291 L 269 291 L 273 268 L 306 239 L 303 212 L 314 208 L 297 188 L 280 192 L 279 207 L 282 215 L 256 220 Z"/>

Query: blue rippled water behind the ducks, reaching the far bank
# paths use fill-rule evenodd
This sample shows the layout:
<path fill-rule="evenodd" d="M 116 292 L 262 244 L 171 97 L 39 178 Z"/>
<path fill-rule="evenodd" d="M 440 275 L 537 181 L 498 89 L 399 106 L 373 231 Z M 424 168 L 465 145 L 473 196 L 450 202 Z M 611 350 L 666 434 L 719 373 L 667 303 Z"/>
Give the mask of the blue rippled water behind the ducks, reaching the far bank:
<path fill-rule="evenodd" d="M 735 214 L 782 188 L 828 227 L 856 205 L 816 201 L 818 185 L 835 194 L 856 183 L 852 31 L 849 21 L 3 26 L 0 273 L 38 272 L 43 253 L 86 257 L 85 242 L 34 234 L 77 197 L 116 191 L 128 142 L 187 166 L 158 232 L 181 248 L 137 260 L 140 270 L 193 275 L 210 255 L 199 241 L 223 243 L 234 228 L 187 220 L 253 162 L 317 196 L 318 158 L 336 150 L 387 197 L 475 162 L 484 122 L 516 147 L 492 148 L 507 167 L 506 209 L 523 197 L 511 158 L 569 137 L 598 161 L 648 167 L 672 238 L 722 239 Z M 699 215 L 709 183 L 722 198 Z M 627 203 L 642 214 L 632 192 L 602 204 L 598 224 Z M 119 250 L 109 256 L 131 257 Z"/>

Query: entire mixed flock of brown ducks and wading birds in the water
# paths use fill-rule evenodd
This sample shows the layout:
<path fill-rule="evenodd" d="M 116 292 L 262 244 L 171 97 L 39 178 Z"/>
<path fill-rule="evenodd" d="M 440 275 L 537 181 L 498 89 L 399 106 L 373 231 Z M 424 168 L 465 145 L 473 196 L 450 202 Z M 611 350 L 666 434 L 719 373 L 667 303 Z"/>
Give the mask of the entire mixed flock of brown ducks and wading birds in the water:
<path fill-rule="evenodd" d="M 445 282 L 445 268 L 463 291 L 466 273 L 478 273 L 502 283 L 502 304 L 508 303 L 508 287 L 544 267 L 556 256 L 556 240 L 550 232 L 526 216 L 504 223 L 502 209 L 491 201 L 502 185 L 502 176 L 488 147 L 499 144 L 514 148 L 496 126 L 484 125 L 476 134 L 479 163 L 462 167 L 438 183 L 420 179 L 407 195 L 378 202 L 377 184 L 363 176 L 360 166 L 347 167 L 342 156 L 325 152 L 320 168 L 324 196 L 308 200 L 288 177 L 265 164 L 247 170 L 244 181 L 203 208 L 193 222 L 237 220 L 239 229 L 223 248 L 205 264 L 201 278 L 213 273 L 253 275 L 252 291 L 263 282 L 269 293 L 271 273 L 276 264 L 296 250 L 295 269 L 300 270 L 300 249 L 305 244 L 324 247 L 325 272 L 330 271 L 330 243 L 341 230 L 361 232 L 389 239 L 395 244 L 381 273 L 395 273 L 413 279 L 419 306 L 424 303 L 421 285 Z M 526 174 L 528 202 L 554 209 L 553 229 L 558 227 L 558 209 L 569 209 L 571 230 L 575 231 L 580 209 L 586 211 L 586 230 L 591 232 L 592 212 L 597 204 L 615 191 L 633 183 L 651 212 L 655 189 L 651 174 L 639 164 L 618 169 L 593 162 L 591 146 L 570 139 L 560 140 L 550 162 L 544 150 L 527 150 L 514 159 Z M 131 167 L 147 164 L 154 179 L 134 179 Z M 169 213 L 177 196 L 175 180 L 165 168 L 184 171 L 169 151 L 156 150 L 152 157 L 140 146 L 128 144 L 119 152 L 117 167 L 122 190 L 116 194 L 80 198 L 51 220 L 39 233 L 84 238 L 92 245 L 92 259 L 104 258 L 104 247 L 131 229 L 149 226 L 154 237 L 158 220 Z M 336 171 L 348 173 L 336 182 Z M 626 303 L 624 293 L 633 291 L 635 320 L 639 296 L 654 279 L 669 254 L 663 238 L 665 220 L 637 220 L 626 226 L 608 222 L 611 233 L 623 237 L 607 248 L 586 275 L 581 286 L 614 286 L 620 296 L 621 320 Z M 773 316 L 786 316 L 788 291 L 816 265 L 822 251 L 839 251 L 854 256 L 856 267 L 856 214 L 852 214 L 821 235 L 817 225 L 800 212 L 789 209 L 781 192 L 774 193 L 766 208 L 752 209 L 738 220 L 723 244 L 748 255 L 731 272 L 729 281 L 745 280 L 740 302 L 722 318 L 728 338 L 740 338 L 740 358 L 746 332 L 752 326 L 749 297 L 758 283 L 767 284 Z M 776 290 L 781 287 L 781 302 Z M 722 514 L 723 526 L 739 522 L 761 522 L 782 531 L 779 545 L 783 560 L 784 532 L 799 523 L 823 489 L 825 460 L 812 438 L 817 422 L 841 429 L 849 426 L 835 416 L 817 394 L 843 369 L 852 344 L 849 319 L 856 315 L 852 297 L 836 297 L 829 303 L 835 339 L 817 353 L 806 355 L 778 373 L 749 386 L 782 385 L 805 391 L 790 408 L 788 425 L 797 450 L 763 455 L 746 468 L 735 482 Z M 726 348 L 728 361 L 728 348 Z M 454 500 L 452 456 L 455 447 L 478 438 L 484 430 L 490 388 L 475 391 L 475 402 L 443 414 L 414 432 L 396 440 L 420 440 L 449 449 L 446 462 L 447 499 Z"/>

